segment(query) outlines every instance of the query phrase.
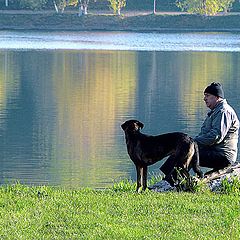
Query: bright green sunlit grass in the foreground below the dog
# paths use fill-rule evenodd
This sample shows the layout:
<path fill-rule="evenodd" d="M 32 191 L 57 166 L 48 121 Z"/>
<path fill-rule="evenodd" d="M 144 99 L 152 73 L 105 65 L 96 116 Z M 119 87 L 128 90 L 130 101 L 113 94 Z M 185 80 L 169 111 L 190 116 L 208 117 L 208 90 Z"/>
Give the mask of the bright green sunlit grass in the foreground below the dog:
<path fill-rule="evenodd" d="M 239 239 L 239 195 L 0 187 L 1 239 Z"/>

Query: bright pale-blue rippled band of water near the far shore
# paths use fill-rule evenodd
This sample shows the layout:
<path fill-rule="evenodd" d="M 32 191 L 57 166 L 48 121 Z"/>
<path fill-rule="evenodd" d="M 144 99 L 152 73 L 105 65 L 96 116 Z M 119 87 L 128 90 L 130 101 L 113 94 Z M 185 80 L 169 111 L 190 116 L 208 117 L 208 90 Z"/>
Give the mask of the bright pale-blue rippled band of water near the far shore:
<path fill-rule="evenodd" d="M 0 31 L 0 49 L 239 52 L 240 34 Z"/>

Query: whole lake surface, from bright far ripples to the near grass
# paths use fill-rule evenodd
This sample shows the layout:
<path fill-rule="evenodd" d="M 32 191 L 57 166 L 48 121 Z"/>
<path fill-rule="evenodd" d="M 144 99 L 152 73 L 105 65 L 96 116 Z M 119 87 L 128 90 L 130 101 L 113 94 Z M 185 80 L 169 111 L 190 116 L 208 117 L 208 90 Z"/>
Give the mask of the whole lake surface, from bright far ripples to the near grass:
<path fill-rule="evenodd" d="M 0 183 L 98 188 L 135 179 L 121 123 L 195 136 L 212 81 L 240 116 L 239 39 L 0 32 Z"/>

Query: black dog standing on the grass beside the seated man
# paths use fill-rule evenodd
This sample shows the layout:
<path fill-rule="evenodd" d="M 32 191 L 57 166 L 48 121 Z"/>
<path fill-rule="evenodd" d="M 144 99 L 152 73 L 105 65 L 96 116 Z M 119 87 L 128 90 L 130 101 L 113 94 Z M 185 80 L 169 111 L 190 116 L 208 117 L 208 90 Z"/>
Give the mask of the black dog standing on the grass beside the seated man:
<path fill-rule="evenodd" d="M 198 147 L 190 136 L 181 132 L 148 136 L 140 132 L 143 126 L 138 120 L 128 120 L 121 125 L 128 154 L 136 166 L 138 192 L 141 186 L 143 190 L 147 188 L 147 167 L 167 156 L 174 160 L 176 168 L 188 174 L 192 167 L 199 177 L 203 177 L 199 167 Z M 173 171 L 165 177 L 167 181 L 172 178 Z"/>

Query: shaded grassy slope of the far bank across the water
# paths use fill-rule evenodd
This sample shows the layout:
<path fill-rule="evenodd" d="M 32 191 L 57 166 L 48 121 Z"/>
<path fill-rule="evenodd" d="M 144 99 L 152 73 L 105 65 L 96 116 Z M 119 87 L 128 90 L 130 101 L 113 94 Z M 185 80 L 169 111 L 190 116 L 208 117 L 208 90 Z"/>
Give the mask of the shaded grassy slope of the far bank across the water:
<path fill-rule="evenodd" d="M 190 14 L 109 14 L 0 13 L 0 29 L 12 30 L 120 30 L 120 31 L 240 31 L 240 15 L 203 17 Z"/>

